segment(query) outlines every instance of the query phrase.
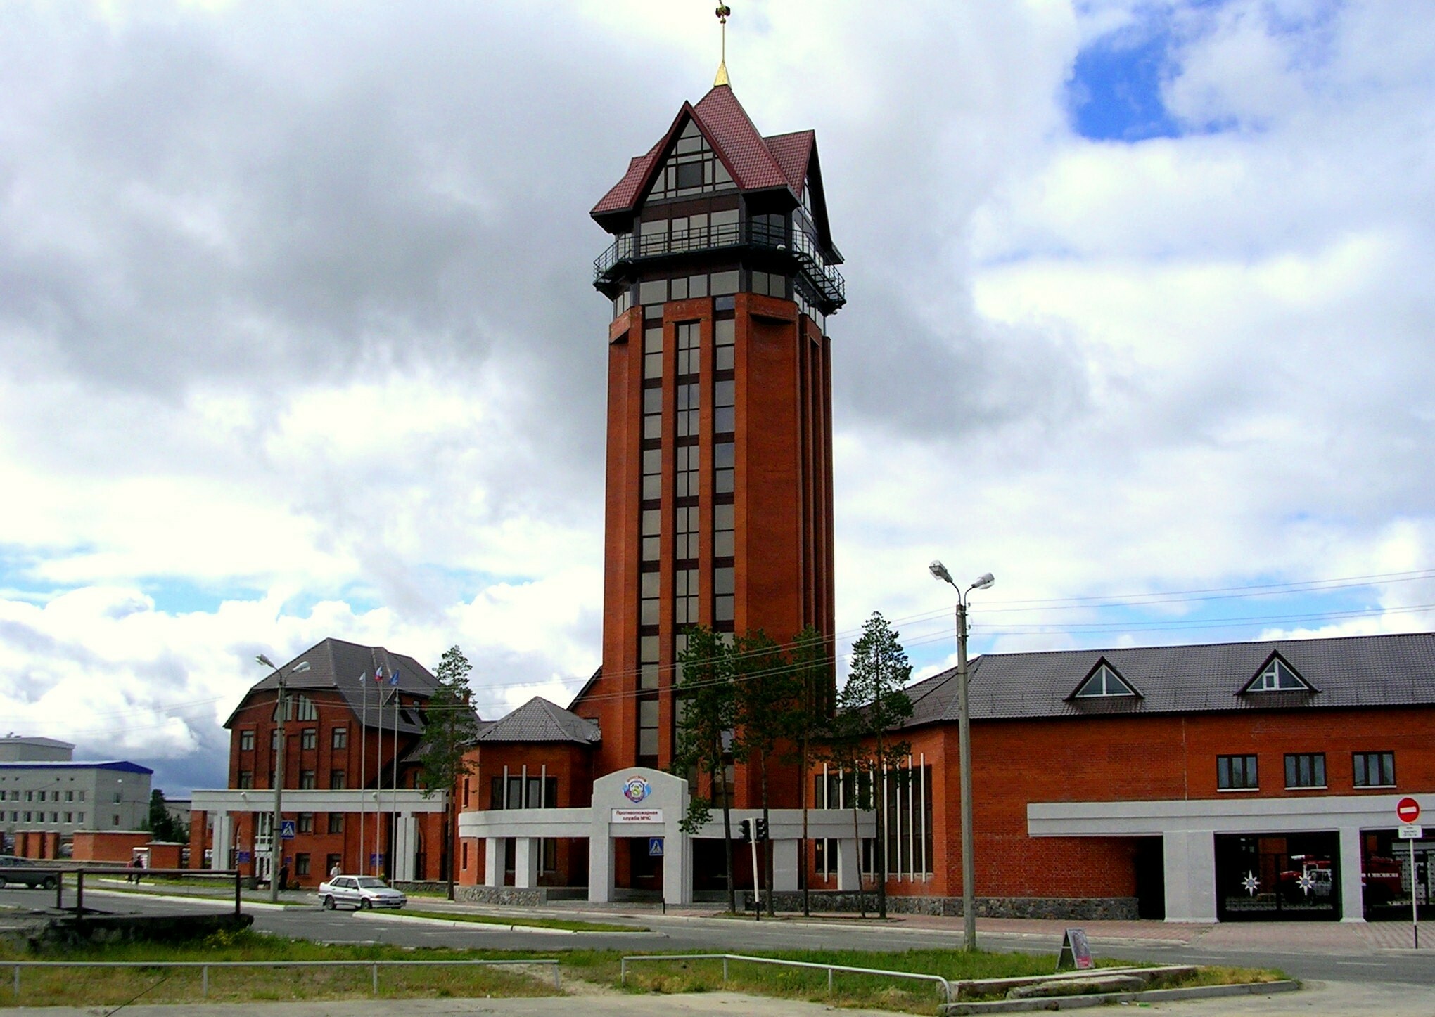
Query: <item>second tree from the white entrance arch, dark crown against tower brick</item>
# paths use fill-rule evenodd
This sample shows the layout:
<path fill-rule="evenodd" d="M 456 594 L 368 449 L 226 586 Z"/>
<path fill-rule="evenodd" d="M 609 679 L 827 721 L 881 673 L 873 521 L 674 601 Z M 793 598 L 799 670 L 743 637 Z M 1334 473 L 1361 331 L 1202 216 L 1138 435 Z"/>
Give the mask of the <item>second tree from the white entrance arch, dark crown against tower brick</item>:
<path fill-rule="evenodd" d="M 732 670 L 738 707 L 738 727 L 732 746 L 733 759 L 758 765 L 762 825 L 766 828 L 769 820 L 768 762 L 778 753 L 788 736 L 792 724 L 791 714 L 799 703 L 799 689 L 782 648 L 761 628 L 738 637 L 733 643 Z M 771 841 L 762 848 L 769 915 L 775 914 L 771 848 Z M 753 892 L 758 892 L 756 886 L 753 886 Z"/>

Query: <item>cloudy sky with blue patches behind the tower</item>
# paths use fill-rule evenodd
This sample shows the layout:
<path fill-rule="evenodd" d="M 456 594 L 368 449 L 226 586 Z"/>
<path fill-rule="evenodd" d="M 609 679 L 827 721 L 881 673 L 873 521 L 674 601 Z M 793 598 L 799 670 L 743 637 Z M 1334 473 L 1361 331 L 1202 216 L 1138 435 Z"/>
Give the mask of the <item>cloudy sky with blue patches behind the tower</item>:
<path fill-rule="evenodd" d="M 1435 20 L 1319 0 L 732 4 L 815 128 L 839 648 L 1435 623 Z M 598 661 L 588 209 L 709 0 L 0 7 L 0 729 L 222 785 L 334 635 L 485 716 Z M 0 732 L 3 733 L 3 732 Z"/>

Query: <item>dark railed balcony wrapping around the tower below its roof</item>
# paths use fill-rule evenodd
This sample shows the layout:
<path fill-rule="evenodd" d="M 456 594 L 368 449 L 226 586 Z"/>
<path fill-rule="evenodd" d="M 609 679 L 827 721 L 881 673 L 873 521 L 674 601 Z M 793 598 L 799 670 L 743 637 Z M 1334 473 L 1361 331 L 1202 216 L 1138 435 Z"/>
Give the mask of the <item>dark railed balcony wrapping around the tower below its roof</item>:
<path fill-rule="evenodd" d="M 620 234 L 608 250 L 594 258 L 593 284 L 607 293 L 643 261 L 722 250 L 786 254 L 795 268 L 821 295 L 825 314 L 831 314 L 847 303 L 847 284 L 842 274 L 827 264 L 827 258 L 822 257 L 811 237 L 802 231 L 772 230 L 752 222 L 709 225 L 700 230 L 649 234 L 646 237 Z"/>

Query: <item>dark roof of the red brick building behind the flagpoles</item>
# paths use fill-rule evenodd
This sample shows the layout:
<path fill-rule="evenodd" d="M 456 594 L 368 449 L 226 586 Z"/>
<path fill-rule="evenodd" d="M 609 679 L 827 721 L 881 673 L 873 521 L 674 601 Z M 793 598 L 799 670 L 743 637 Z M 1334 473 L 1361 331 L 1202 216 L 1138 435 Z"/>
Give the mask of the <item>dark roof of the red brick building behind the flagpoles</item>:
<path fill-rule="evenodd" d="M 309 670 L 294 674 L 293 668 L 300 661 L 307 661 Z M 383 686 L 380 687 L 376 687 L 373 680 L 376 667 L 383 667 Z M 429 674 L 429 670 L 423 664 L 413 660 L 413 657 L 389 653 L 383 647 L 366 647 L 357 643 L 327 638 L 323 643 L 311 645 L 283 666 L 286 676 L 284 686 L 287 689 L 293 691 L 304 691 L 306 689 L 337 690 L 347 700 L 349 709 L 354 711 L 354 717 L 363 719 L 367 714 L 370 727 L 382 726 L 385 730 L 393 730 L 393 709 L 383 709 L 380 720 L 379 701 L 382 696 L 383 701 L 387 703 L 392 696 L 393 687 L 389 684 L 389 676 L 393 674 L 395 668 L 399 670 L 399 689 L 405 696 L 426 700 L 433 694 L 438 678 Z M 277 684 L 278 677 L 271 671 L 261 681 L 250 687 L 248 694 L 245 694 L 240 706 L 243 707 L 254 693 L 273 690 Z M 237 711 L 238 707 L 235 707 Z M 402 733 L 422 733 L 423 726 L 419 720 L 415 710 L 408 707 L 399 710 L 399 730 Z M 228 727 L 232 722 L 234 714 L 230 714 L 224 726 Z"/>

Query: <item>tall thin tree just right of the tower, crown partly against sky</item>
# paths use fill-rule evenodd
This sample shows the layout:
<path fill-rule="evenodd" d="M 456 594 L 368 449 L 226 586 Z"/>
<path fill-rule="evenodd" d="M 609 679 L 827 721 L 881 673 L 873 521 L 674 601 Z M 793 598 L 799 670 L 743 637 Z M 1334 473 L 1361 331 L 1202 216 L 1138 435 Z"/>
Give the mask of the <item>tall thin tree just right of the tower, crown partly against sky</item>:
<path fill-rule="evenodd" d="M 895 767 L 911 752 L 907 742 L 893 739 L 891 729 L 911 716 L 911 699 L 903 691 L 911 678 L 907 651 L 897 641 L 898 633 L 880 612 L 862 625 L 852 644 L 851 668 L 842 689 L 850 713 L 861 717 L 868 766 L 872 772 L 872 808 L 877 810 L 877 912 L 887 917 L 887 769 Z"/>

